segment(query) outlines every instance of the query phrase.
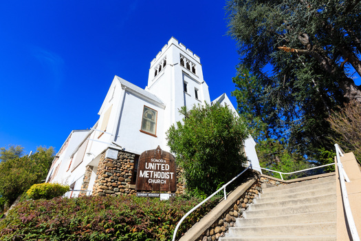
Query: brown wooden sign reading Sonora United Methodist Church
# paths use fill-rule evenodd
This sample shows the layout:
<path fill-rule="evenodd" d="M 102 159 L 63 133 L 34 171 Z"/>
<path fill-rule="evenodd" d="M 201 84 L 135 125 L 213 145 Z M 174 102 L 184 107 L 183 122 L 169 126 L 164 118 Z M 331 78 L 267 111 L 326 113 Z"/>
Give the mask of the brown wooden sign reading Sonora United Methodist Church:
<path fill-rule="evenodd" d="M 139 158 L 137 191 L 173 191 L 177 189 L 175 158 L 160 149 L 144 151 Z"/>

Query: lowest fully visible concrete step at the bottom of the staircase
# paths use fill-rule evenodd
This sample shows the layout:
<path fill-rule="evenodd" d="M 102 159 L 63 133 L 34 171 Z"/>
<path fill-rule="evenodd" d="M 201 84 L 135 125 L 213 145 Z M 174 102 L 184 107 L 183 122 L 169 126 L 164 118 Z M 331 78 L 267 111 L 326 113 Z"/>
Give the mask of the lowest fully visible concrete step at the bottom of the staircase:
<path fill-rule="evenodd" d="M 263 227 L 230 227 L 230 237 L 278 236 L 278 235 L 336 235 L 336 222 L 311 224 L 287 224 Z"/>

